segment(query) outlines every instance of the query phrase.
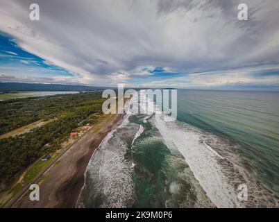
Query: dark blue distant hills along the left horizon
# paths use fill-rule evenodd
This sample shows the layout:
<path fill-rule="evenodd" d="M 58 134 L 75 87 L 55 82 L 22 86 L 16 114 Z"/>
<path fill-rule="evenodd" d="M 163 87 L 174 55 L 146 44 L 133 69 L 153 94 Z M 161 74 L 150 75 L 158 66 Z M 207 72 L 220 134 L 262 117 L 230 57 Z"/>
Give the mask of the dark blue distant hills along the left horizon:
<path fill-rule="evenodd" d="M 43 83 L 0 83 L 0 92 L 24 92 L 24 91 L 79 91 L 96 90 L 103 87 L 88 85 L 62 85 Z"/>

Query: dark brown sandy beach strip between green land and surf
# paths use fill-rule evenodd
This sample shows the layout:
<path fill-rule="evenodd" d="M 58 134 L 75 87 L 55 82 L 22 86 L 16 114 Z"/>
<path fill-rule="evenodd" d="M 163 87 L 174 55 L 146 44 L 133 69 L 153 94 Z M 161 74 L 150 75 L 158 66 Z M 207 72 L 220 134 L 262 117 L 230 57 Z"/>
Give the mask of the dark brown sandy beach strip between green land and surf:
<path fill-rule="evenodd" d="M 40 201 L 31 201 L 25 195 L 15 207 L 76 207 L 85 181 L 84 173 L 92 154 L 105 136 L 118 126 L 123 117 L 123 114 L 115 114 L 108 122 L 97 123 L 87 135 L 61 157 L 59 164 L 49 169 L 44 174 L 44 179 L 38 182 Z M 96 130 L 97 132 L 94 132 Z"/>

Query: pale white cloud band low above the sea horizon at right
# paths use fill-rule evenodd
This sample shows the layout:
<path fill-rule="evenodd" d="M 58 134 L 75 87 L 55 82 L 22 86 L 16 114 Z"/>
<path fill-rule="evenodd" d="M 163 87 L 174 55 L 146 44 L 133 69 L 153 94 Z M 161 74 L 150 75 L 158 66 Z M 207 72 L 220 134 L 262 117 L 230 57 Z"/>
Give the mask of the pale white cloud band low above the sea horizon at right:
<path fill-rule="evenodd" d="M 169 79 L 137 84 L 137 87 L 178 87 L 178 88 L 208 88 L 232 85 L 265 85 L 279 87 L 279 71 L 277 75 L 262 75 L 261 72 L 279 70 L 279 66 L 248 67 L 223 71 L 210 71 Z"/>

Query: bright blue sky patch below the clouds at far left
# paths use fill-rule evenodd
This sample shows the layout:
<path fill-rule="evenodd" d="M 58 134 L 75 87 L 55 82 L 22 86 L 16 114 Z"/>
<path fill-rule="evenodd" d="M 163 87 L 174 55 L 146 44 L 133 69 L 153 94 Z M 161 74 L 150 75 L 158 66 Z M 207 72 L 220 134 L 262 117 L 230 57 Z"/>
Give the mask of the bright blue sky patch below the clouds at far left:
<path fill-rule="evenodd" d="M 5 74 L 30 71 L 42 76 L 74 76 L 70 71 L 49 65 L 44 59 L 24 51 L 4 33 L 0 33 L 0 71 Z"/>

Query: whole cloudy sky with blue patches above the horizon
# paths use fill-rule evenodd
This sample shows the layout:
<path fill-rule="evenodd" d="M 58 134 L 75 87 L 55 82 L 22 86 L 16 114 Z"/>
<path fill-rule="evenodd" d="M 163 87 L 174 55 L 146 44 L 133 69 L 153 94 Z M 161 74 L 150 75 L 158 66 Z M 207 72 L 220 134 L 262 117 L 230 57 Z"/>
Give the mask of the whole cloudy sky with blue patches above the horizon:
<path fill-rule="evenodd" d="M 278 90 L 278 21 L 278 0 L 0 0 L 0 82 Z"/>

